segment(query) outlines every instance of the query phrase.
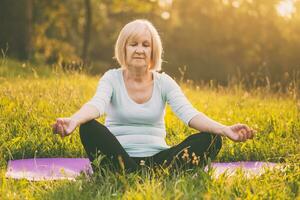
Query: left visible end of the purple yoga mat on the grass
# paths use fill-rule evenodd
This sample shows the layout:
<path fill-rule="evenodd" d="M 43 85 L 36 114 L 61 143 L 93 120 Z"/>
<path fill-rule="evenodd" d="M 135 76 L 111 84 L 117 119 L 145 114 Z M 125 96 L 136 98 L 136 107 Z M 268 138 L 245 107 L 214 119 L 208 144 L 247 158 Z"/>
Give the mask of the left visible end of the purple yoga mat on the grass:
<path fill-rule="evenodd" d="M 34 158 L 10 160 L 6 177 L 31 181 L 41 180 L 75 180 L 84 172 L 91 174 L 92 168 L 86 158 Z"/>

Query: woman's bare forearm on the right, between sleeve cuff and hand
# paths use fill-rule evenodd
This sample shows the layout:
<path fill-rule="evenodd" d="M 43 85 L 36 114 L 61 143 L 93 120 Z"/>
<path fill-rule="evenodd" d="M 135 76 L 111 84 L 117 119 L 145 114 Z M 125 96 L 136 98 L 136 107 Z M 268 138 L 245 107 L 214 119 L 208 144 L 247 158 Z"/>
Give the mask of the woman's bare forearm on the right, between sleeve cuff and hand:
<path fill-rule="evenodd" d="M 210 119 L 201 112 L 189 121 L 189 126 L 200 132 L 209 132 L 217 135 L 224 135 L 223 129 L 227 127 L 219 122 Z"/>

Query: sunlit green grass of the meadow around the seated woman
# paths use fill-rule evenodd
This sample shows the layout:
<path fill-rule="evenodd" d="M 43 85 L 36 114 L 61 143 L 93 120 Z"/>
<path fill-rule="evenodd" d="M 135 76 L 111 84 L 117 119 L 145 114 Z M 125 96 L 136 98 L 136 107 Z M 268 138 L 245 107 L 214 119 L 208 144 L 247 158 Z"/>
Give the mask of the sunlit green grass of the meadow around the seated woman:
<path fill-rule="evenodd" d="M 218 161 L 281 162 L 283 170 L 251 179 L 242 172 L 214 179 L 201 169 L 129 175 L 106 171 L 107 176 L 81 176 L 77 181 L 6 179 L 9 159 L 86 156 L 78 130 L 61 139 L 51 133 L 51 124 L 89 100 L 98 78 L 28 63 L 24 67 L 12 60 L 1 63 L 0 75 L 0 199 L 299 199 L 299 100 L 263 88 L 245 91 L 238 85 L 215 89 L 182 84 L 182 88 L 193 105 L 211 118 L 228 125 L 247 123 L 258 131 L 254 140 L 245 143 L 224 139 Z M 169 145 L 196 132 L 169 107 L 165 120 Z"/>

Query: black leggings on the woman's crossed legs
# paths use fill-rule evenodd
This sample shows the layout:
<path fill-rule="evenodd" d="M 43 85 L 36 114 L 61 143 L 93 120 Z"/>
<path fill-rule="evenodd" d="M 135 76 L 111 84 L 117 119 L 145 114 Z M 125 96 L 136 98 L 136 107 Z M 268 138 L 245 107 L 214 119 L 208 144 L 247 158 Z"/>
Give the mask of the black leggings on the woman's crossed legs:
<path fill-rule="evenodd" d="M 101 166 L 108 164 L 113 169 L 136 171 L 142 166 L 166 166 L 189 169 L 204 166 L 208 157 L 215 159 L 222 147 L 222 138 L 211 133 L 196 133 L 180 144 L 150 157 L 130 157 L 117 138 L 96 120 L 82 124 L 79 129 L 81 142 L 93 162 L 99 154 L 105 155 Z M 95 165 L 92 163 L 93 168 Z"/>

